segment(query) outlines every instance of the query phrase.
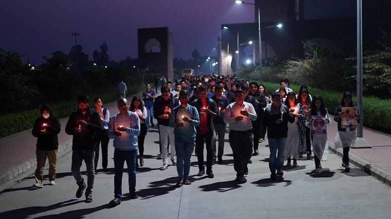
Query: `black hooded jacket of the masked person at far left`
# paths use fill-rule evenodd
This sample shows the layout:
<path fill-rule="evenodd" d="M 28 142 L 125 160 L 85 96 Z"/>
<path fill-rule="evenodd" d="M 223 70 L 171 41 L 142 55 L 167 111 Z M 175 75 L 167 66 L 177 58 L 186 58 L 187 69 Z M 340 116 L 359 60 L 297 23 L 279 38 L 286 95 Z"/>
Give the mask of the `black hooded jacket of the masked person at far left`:
<path fill-rule="evenodd" d="M 48 110 L 50 113 L 49 118 L 42 117 L 43 110 Z M 43 126 L 46 123 L 47 126 Z M 42 129 L 46 129 L 45 132 L 41 132 Z M 35 120 L 32 135 L 37 137 L 37 149 L 44 151 L 52 151 L 58 149 L 58 137 L 60 133 L 61 124 L 60 121 L 53 116 L 52 109 L 49 105 L 45 104 L 41 108 L 41 116 Z"/>

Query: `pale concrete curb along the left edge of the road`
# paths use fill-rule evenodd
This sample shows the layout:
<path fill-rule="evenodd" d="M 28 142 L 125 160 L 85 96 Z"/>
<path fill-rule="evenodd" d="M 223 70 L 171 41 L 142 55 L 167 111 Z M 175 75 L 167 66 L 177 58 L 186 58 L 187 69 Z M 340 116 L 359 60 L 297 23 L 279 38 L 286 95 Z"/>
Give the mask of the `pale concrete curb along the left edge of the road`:
<path fill-rule="evenodd" d="M 72 140 L 65 141 L 64 143 L 58 145 L 58 153 L 67 151 L 70 148 L 72 148 Z M 61 153 L 60 156 L 58 154 L 57 159 L 61 158 L 63 156 L 63 154 L 65 154 L 65 153 Z M 45 162 L 45 163 L 46 163 L 46 165 L 49 165 L 49 164 L 47 164 L 47 162 Z M 36 164 L 37 164 L 37 159 L 36 159 L 36 157 L 33 157 L 33 158 L 27 159 L 19 164 L 16 164 L 12 167 L 9 167 L 8 169 L 6 169 L 4 171 L 1 171 L 0 172 L 0 186 L 6 182 L 9 182 L 11 179 L 22 174 L 23 172 L 26 172 L 27 170 L 35 167 Z"/>

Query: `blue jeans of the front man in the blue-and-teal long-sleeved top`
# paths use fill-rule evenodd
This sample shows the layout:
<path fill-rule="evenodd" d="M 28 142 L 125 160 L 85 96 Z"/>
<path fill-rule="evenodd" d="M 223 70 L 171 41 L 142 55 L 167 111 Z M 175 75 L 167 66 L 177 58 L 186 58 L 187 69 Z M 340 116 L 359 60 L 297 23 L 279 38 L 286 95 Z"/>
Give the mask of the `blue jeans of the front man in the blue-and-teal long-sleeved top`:
<path fill-rule="evenodd" d="M 186 180 L 190 173 L 190 159 L 194 148 L 194 141 L 184 141 L 175 138 L 175 151 L 177 152 L 177 171 L 179 180 Z"/>

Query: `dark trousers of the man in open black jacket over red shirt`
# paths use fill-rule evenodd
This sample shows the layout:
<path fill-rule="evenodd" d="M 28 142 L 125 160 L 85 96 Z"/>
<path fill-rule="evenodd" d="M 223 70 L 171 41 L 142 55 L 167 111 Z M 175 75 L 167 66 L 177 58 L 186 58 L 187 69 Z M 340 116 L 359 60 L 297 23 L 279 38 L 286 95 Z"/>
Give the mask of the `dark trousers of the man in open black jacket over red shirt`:
<path fill-rule="evenodd" d="M 206 147 L 206 170 L 212 169 L 213 160 L 213 144 L 212 144 L 213 131 L 209 131 L 206 134 L 197 134 L 195 136 L 195 149 L 197 150 L 198 168 L 203 167 L 203 143 Z"/>

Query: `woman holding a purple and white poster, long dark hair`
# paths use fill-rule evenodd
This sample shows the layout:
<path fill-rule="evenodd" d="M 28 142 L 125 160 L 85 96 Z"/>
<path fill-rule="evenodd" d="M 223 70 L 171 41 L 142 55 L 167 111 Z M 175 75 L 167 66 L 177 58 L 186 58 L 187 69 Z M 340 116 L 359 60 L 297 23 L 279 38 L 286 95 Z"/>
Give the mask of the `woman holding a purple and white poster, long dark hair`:
<path fill-rule="evenodd" d="M 322 159 L 324 148 L 327 143 L 326 123 L 330 123 L 330 116 L 324 107 L 322 97 L 316 95 L 311 102 L 311 108 L 308 110 L 306 125 L 312 132 L 312 150 L 315 160 L 315 169 L 313 172 L 318 173 L 322 168 L 320 159 Z"/>

